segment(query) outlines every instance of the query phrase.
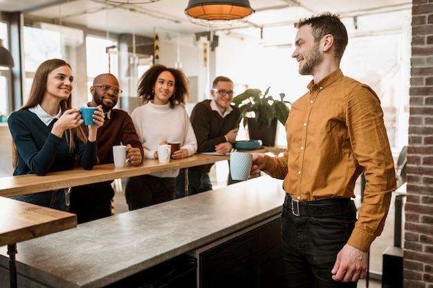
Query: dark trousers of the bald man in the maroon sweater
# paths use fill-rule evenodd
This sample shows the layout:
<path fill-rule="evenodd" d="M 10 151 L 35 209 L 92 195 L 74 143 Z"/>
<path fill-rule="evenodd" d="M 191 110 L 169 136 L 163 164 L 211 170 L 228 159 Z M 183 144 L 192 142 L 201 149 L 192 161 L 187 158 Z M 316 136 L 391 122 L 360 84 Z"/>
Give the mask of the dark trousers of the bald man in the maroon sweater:
<path fill-rule="evenodd" d="M 100 187 L 74 187 L 71 190 L 69 212 L 77 214 L 77 223 L 111 216 L 111 200 L 114 190 L 111 184 Z"/>

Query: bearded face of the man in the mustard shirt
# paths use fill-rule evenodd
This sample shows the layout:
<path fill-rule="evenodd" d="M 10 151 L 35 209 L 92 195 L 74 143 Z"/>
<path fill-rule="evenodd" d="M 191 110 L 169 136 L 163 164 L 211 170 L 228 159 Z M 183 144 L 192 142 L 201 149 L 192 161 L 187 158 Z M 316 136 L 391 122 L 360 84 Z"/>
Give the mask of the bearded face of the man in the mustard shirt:
<path fill-rule="evenodd" d="M 314 42 L 310 25 L 302 26 L 296 33 L 296 49 L 292 57 L 299 63 L 301 75 L 313 75 L 316 67 L 322 62 L 320 42 Z"/>

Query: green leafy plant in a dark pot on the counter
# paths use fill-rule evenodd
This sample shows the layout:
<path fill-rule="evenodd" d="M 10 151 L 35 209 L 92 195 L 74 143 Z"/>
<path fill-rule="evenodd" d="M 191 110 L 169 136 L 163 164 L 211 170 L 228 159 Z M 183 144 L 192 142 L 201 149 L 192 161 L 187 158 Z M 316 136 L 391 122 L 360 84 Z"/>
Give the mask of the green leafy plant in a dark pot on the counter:
<path fill-rule="evenodd" d="M 264 146 L 275 145 L 277 121 L 286 124 L 292 104 L 284 100 L 285 93 L 279 93 L 279 99 L 274 99 L 268 95 L 269 89 L 264 94 L 260 89 L 246 89 L 232 101 L 241 110 L 239 122 L 243 122 L 243 127 L 248 125 L 250 139 L 260 139 Z"/>

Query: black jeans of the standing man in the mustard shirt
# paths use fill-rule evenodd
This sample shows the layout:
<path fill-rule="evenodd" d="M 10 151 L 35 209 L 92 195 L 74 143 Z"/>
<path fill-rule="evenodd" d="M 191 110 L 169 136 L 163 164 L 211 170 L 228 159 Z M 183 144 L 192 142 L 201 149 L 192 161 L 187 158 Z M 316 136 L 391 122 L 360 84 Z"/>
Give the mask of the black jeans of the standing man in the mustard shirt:
<path fill-rule="evenodd" d="M 333 217 L 295 216 L 283 205 L 282 251 L 288 287 L 356 287 L 331 276 L 338 252 L 355 226 L 356 213 Z"/>

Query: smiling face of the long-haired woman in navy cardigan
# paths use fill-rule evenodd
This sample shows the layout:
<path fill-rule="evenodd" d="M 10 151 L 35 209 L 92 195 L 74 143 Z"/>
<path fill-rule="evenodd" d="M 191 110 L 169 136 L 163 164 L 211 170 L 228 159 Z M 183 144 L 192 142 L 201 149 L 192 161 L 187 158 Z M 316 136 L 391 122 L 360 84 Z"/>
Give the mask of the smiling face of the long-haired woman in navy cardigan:
<path fill-rule="evenodd" d="M 69 66 L 60 66 L 48 73 L 46 79 L 46 93 L 44 97 L 53 97 L 60 100 L 66 100 L 71 96 L 73 89 L 73 75 Z"/>

